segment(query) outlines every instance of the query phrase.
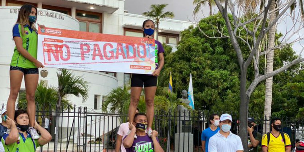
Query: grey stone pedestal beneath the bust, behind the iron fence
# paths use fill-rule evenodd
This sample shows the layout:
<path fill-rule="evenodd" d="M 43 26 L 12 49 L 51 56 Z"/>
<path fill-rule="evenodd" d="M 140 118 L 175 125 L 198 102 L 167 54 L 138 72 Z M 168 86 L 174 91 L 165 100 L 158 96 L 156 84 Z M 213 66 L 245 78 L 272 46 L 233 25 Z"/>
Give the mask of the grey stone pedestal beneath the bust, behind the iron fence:
<path fill-rule="evenodd" d="M 174 135 L 174 152 L 193 151 L 193 134 L 191 133 L 191 118 L 189 111 L 182 105 L 177 106 L 177 133 Z"/>

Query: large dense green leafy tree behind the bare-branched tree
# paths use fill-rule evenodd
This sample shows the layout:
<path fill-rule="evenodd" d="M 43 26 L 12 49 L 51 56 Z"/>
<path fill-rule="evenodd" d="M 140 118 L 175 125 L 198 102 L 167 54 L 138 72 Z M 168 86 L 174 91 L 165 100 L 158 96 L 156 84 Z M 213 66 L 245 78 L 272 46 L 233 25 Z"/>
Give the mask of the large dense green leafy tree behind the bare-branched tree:
<path fill-rule="evenodd" d="M 224 20 L 220 14 L 202 19 L 198 26 L 189 27 L 181 33 L 181 41 L 177 51 L 166 53 L 163 77 L 167 79 L 158 87 L 168 86 L 170 73 L 168 71 L 171 71 L 173 90 L 180 97 L 179 93 L 184 89 L 187 90 L 189 75 L 192 73 L 195 109 L 238 114 L 240 108 L 240 70 L 236 53 L 228 38 L 212 39 L 203 35 L 199 30 L 200 28 L 208 34 L 216 33 L 212 25 L 224 26 Z M 224 28 L 223 31 L 226 31 L 226 29 Z M 241 34 L 241 36 L 246 35 L 246 33 Z M 280 36 L 282 34 L 277 34 L 276 40 L 279 40 Z M 240 47 L 245 49 L 247 46 L 241 44 Z M 291 46 L 276 50 L 274 69 L 282 67 L 284 63 L 290 62 L 296 57 Z M 265 63 L 263 56 L 260 62 L 261 64 Z M 265 70 L 263 66 L 259 69 L 261 72 Z M 292 81 L 297 69 L 299 69 L 299 65 L 274 76 L 274 84 L 285 85 Z M 247 79 L 247 86 L 249 86 L 254 80 L 253 64 L 248 68 Z M 256 119 L 263 118 L 261 109 L 264 109 L 264 87 L 264 82 L 259 84 L 250 99 L 249 116 Z M 277 111 L 278 109 L 275 109 L 273 112 Z"/>

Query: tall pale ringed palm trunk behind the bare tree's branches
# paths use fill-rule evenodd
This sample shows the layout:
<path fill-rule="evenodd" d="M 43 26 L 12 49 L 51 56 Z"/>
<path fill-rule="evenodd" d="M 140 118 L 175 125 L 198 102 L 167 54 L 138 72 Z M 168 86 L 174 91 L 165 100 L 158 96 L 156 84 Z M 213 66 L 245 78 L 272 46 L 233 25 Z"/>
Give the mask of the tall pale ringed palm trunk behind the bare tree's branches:
<path fill-rule="evenodd" d="M 275 9 L 275 1 L 272 1 L 271 6 L 269 8 L 269 11 L 272 11 Z M 270 16 L 270 21 L 272 22 L 276 17 L 276 14 L 273 13 Z M 277 25 L 271 27 L 268 33 L 268 49 L 271 49 L 275 46 L 275 30 L 277 28 Z M 274 50 L 271 50 L 267 54 L 267 67 L 266 67 L 266 74 L 273 71 L 273 57 L 274 57 Z M 264 105 L 264 116 L 266 116 L 266 119 L 268 116 L 271 116 L 271 102 L 272 102 L 272 77 L 266 79 L 265 83 L 266 89 L 265 89 L 265 105 Z M 263 126 L 263 134 L 269 132 L 269 125 Z"/>

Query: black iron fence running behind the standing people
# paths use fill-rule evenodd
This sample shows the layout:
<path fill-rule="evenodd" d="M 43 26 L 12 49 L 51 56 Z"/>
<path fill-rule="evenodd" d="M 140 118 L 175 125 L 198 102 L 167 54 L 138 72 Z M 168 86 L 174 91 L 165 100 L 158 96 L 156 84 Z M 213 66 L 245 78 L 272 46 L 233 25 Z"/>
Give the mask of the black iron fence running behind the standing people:
<path fill-rule="evenodd" d="M 127 122 L 127 115 L 95 112 L 87 107 L 76 107 L 73 110 L 37 111 L 36 120 L 53 136 L 53 139 L 36 151 L 54 152 L 113 152 L 116 146 L 116 134 L 121 123 Z M 56 122 L 59 117 L 59 122 Z M 236 118 L 236 117 L 234 117 Z M 49 119 L 50 121 L 48 121 Z M 48 125 L 46 124 L 48 123 Z M 59 139 L 55 145 L 55 127 L 59 123 Z M 263 133 L 263 125 L 270 125 L 270 118 L 257 120 L 255 130 Z M 282 118 L 282 131 L 287 133 L 292 144 L 301 139 L 303 119 Z M 153 127 L 158 131 L 159 142 L 165 151 L 201 152 L 201 134 L 209 127 L 209 113 L 170 111 L 155 112 Z M 239 124 L 233 119 L 231 131 L 238 133 Z"/>

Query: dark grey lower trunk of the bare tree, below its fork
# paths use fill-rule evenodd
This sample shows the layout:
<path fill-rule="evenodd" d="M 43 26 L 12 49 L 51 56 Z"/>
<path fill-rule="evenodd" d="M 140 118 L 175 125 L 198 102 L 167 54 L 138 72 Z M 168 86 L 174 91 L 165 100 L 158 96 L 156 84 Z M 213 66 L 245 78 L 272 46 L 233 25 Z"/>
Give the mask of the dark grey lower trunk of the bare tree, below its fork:
<path fill-rule="evenodd" d="M 244 152 L 248 152 L 248 135 L 247 135 L 247 119 L 248 119 L 248 103 L 249 97 L 246 94 L 247 69 L 241 67 L 240 78 L 240 130 L 239 136 L 242 140 Z"/>

